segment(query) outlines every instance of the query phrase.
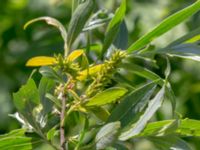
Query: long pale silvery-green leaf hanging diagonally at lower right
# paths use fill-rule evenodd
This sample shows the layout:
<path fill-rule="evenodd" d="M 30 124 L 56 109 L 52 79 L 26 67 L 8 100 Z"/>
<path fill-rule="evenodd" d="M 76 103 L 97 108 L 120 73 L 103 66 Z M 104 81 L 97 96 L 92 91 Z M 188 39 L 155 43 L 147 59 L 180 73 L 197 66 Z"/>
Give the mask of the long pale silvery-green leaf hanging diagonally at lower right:
<path fill-rule="evenodd" d="M 120 140 L 128 140 L 133 136 L 138 135 L 145 128 L 149 119 L 151 119 L 158 108 L 161 107 L 161 104 L 164 100 L 164 93 L 165 86 L 163 86 L 156 96 L 149 102 L 148 107 L 140 119 L 135 124 L 128 126 L 124 131 L 122 131 L 119 137 Z"/>

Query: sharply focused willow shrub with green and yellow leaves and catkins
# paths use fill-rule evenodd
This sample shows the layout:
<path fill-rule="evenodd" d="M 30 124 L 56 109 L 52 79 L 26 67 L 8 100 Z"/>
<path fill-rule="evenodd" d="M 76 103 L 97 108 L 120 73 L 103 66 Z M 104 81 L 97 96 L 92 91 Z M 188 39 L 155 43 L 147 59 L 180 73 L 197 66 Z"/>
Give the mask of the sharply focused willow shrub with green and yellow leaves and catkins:
<path fill-rule="evenodd" d="M 74 0 L 68 30 L 51 17 L 25 24 L 27 28 L 45 21 L 56 27 L 64 52 L 28 60 L 26 65 L 37 71 L 13 94 L 18 110 L 14 117 L 22 128 L 1 135 L 0 149 L 28 150 L 42 143 L 57 150 L 134 149 L 140 139 L 148 139 L 159 150 L 191 149 L 180 137 L 200 136 L 200 121 L 175 113 L 169 57 L 200 61 L 200 29 L 163 48 L 151 42 L 195 14 L 200 1 L 169 16 L 128 48 L 124 40 L 126 0 L 113 15 L 94 12 L 95 5 L 95 0 Z M 91 31 L 107 22 L 103 42 L 92 43 Z M 75 43 L 82 37 L 87 42 L 80 47 Z M 162 77 L 152 71 L 158 65 L 155 56 L 166 62 Z M 42 76 L 38 85 L 32 78 L 34 73 Z M 137 84 L 133 83 L 135 76 L 141 78 Z M 153 122 L 151 118 L 164 100 L 171 101 L 174 117 Z"/>

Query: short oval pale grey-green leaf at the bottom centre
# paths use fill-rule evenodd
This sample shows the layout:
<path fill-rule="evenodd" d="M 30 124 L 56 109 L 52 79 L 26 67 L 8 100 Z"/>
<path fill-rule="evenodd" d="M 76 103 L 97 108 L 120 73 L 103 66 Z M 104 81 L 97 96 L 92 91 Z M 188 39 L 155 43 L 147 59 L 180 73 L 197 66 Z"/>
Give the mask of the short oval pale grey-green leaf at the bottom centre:
<path fill-rule="evenodd" d="M 104 125 L 96 135 L 96 149 L 105 149 L 116 141 L 120 129 L 120 122 L 112 122 Z"/>

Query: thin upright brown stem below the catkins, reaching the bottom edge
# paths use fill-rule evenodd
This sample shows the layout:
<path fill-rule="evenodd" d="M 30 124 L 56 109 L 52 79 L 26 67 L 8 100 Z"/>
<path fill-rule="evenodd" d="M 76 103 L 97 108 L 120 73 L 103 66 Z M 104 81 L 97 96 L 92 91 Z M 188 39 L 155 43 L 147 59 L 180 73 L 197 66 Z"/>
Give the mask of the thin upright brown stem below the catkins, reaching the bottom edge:
<path fill-rule="evenodd" d="M 66 150 L 65 128 L 64 128 L 66 96 L 64 96 L 63 94 L 61 95 L 61 101 L 62 101 L 62 108 L 60 113 L 60 148 L 61 150 Z"/>

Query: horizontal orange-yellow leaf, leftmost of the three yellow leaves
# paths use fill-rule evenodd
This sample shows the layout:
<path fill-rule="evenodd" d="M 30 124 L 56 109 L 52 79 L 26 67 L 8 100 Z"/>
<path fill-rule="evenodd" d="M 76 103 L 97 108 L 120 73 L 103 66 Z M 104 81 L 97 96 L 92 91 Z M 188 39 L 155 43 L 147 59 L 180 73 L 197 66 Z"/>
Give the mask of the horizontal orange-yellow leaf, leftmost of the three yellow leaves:
<path fill-rule="evenodd" d="M 29 59 L 26 63 L 26 66 L 29 67 L 39 67 L 39 66 L 48 66 L 56 64 L 56 59 L 54 57 L 47 56 L 38 56 Z"/>

